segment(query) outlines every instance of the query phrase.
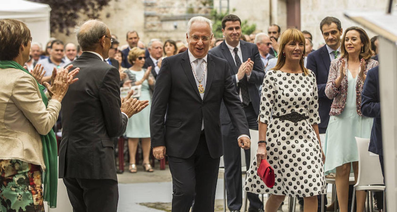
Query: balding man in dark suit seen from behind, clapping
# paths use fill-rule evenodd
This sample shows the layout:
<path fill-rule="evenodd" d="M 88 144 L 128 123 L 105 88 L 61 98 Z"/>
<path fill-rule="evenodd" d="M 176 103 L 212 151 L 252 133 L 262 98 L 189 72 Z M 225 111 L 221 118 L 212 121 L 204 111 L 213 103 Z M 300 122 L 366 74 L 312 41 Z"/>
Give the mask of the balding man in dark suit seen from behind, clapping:
<path fill-rule="evenodd" d="M 110 31 L 101 21 L 77 29 L 83 49 L 71 64 L 80 67 L 79 83 L 62 101 L 62 142 L 59 177 L 64 179 L 74 212 L 116 212 L 118 186 L 112 137 L 125 131 L 128 118 L 148 103 L 129 98 L 120 102 L 119 71 L 104 62 Z"/>

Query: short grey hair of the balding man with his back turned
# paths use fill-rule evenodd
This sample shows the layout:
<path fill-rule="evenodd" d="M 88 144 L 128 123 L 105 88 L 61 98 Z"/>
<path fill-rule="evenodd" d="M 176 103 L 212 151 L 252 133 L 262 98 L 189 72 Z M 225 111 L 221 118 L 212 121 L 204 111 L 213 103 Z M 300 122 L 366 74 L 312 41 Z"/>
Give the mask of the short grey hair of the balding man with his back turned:
<path fill-rule="evenodd" d="M 81 26 L 77 26 L 75 28 L 75 33 L 77 42 L 79 42 L 82 50 L 93 48 L 93 46 L 98 43 L 98 40 L 106 35 L 107 28 L 106 24 L 98 20 L 88 20 Z"/>

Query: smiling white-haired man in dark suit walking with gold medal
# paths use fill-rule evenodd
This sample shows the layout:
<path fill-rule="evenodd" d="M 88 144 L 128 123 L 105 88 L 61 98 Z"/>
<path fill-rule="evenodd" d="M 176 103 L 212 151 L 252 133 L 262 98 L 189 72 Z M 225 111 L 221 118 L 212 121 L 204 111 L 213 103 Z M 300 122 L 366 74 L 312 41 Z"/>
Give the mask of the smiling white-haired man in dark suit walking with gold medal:
<path fill-rule="evenodd" d="M 173 212 L 214 211 L 215 189 L 222 135 L 222 100 L 239 138 L 234 143 L 249 148 L 249 129 L 229 65 L 208 54 L 212 23 L 190 19 L 186 52 L 167 57 L 156 79 L 150 110 L 153 155 L 168 155 L 173 183 Z M 165 120 L 164 120 L 165 117 Z M 241 177 L 241 176 L 239 176 Z M 193 204 L 193 206 L 192 206 Z"/>

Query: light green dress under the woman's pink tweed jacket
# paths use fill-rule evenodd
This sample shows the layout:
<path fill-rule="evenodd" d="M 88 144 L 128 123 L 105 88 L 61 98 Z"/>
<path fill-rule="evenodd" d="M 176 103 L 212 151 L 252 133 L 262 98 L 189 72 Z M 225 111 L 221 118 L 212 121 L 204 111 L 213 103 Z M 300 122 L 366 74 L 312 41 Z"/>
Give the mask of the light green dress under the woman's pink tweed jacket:
<path fill-rule="evenodd" d="M 324 153 L 326 174 L 335 172 L 343 164 L 358 161 L 355 137 L 370 138 L 373 118 L 359 116 L 356 108 L 357 76 L 353 78 L 347 69 L 347 97 L 345 109 L 339 116 L 330 116 L 326 131 Z"/>

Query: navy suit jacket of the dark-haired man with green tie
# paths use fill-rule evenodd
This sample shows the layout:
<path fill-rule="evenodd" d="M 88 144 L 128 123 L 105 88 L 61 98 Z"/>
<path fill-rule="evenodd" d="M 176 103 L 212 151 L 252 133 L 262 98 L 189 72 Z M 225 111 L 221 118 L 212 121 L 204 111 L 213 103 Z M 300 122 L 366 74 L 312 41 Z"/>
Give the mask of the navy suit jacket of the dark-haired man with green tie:
<path fill-rule="evenodd" d="M 312 70 L 316 75 L 318 90 L 318 113 L 320 114 L 321 123 L 318 124 L 320 133 L 325 133 L 328 121 L 330 120 L 330 110 L 332 100 L 325 95 L 325 86 L 328 81 L 328 72 L 330 71 L 331 59 L 326 45 L 318 50 L 311 52 L 307 56 L 306 68 Z"/>

